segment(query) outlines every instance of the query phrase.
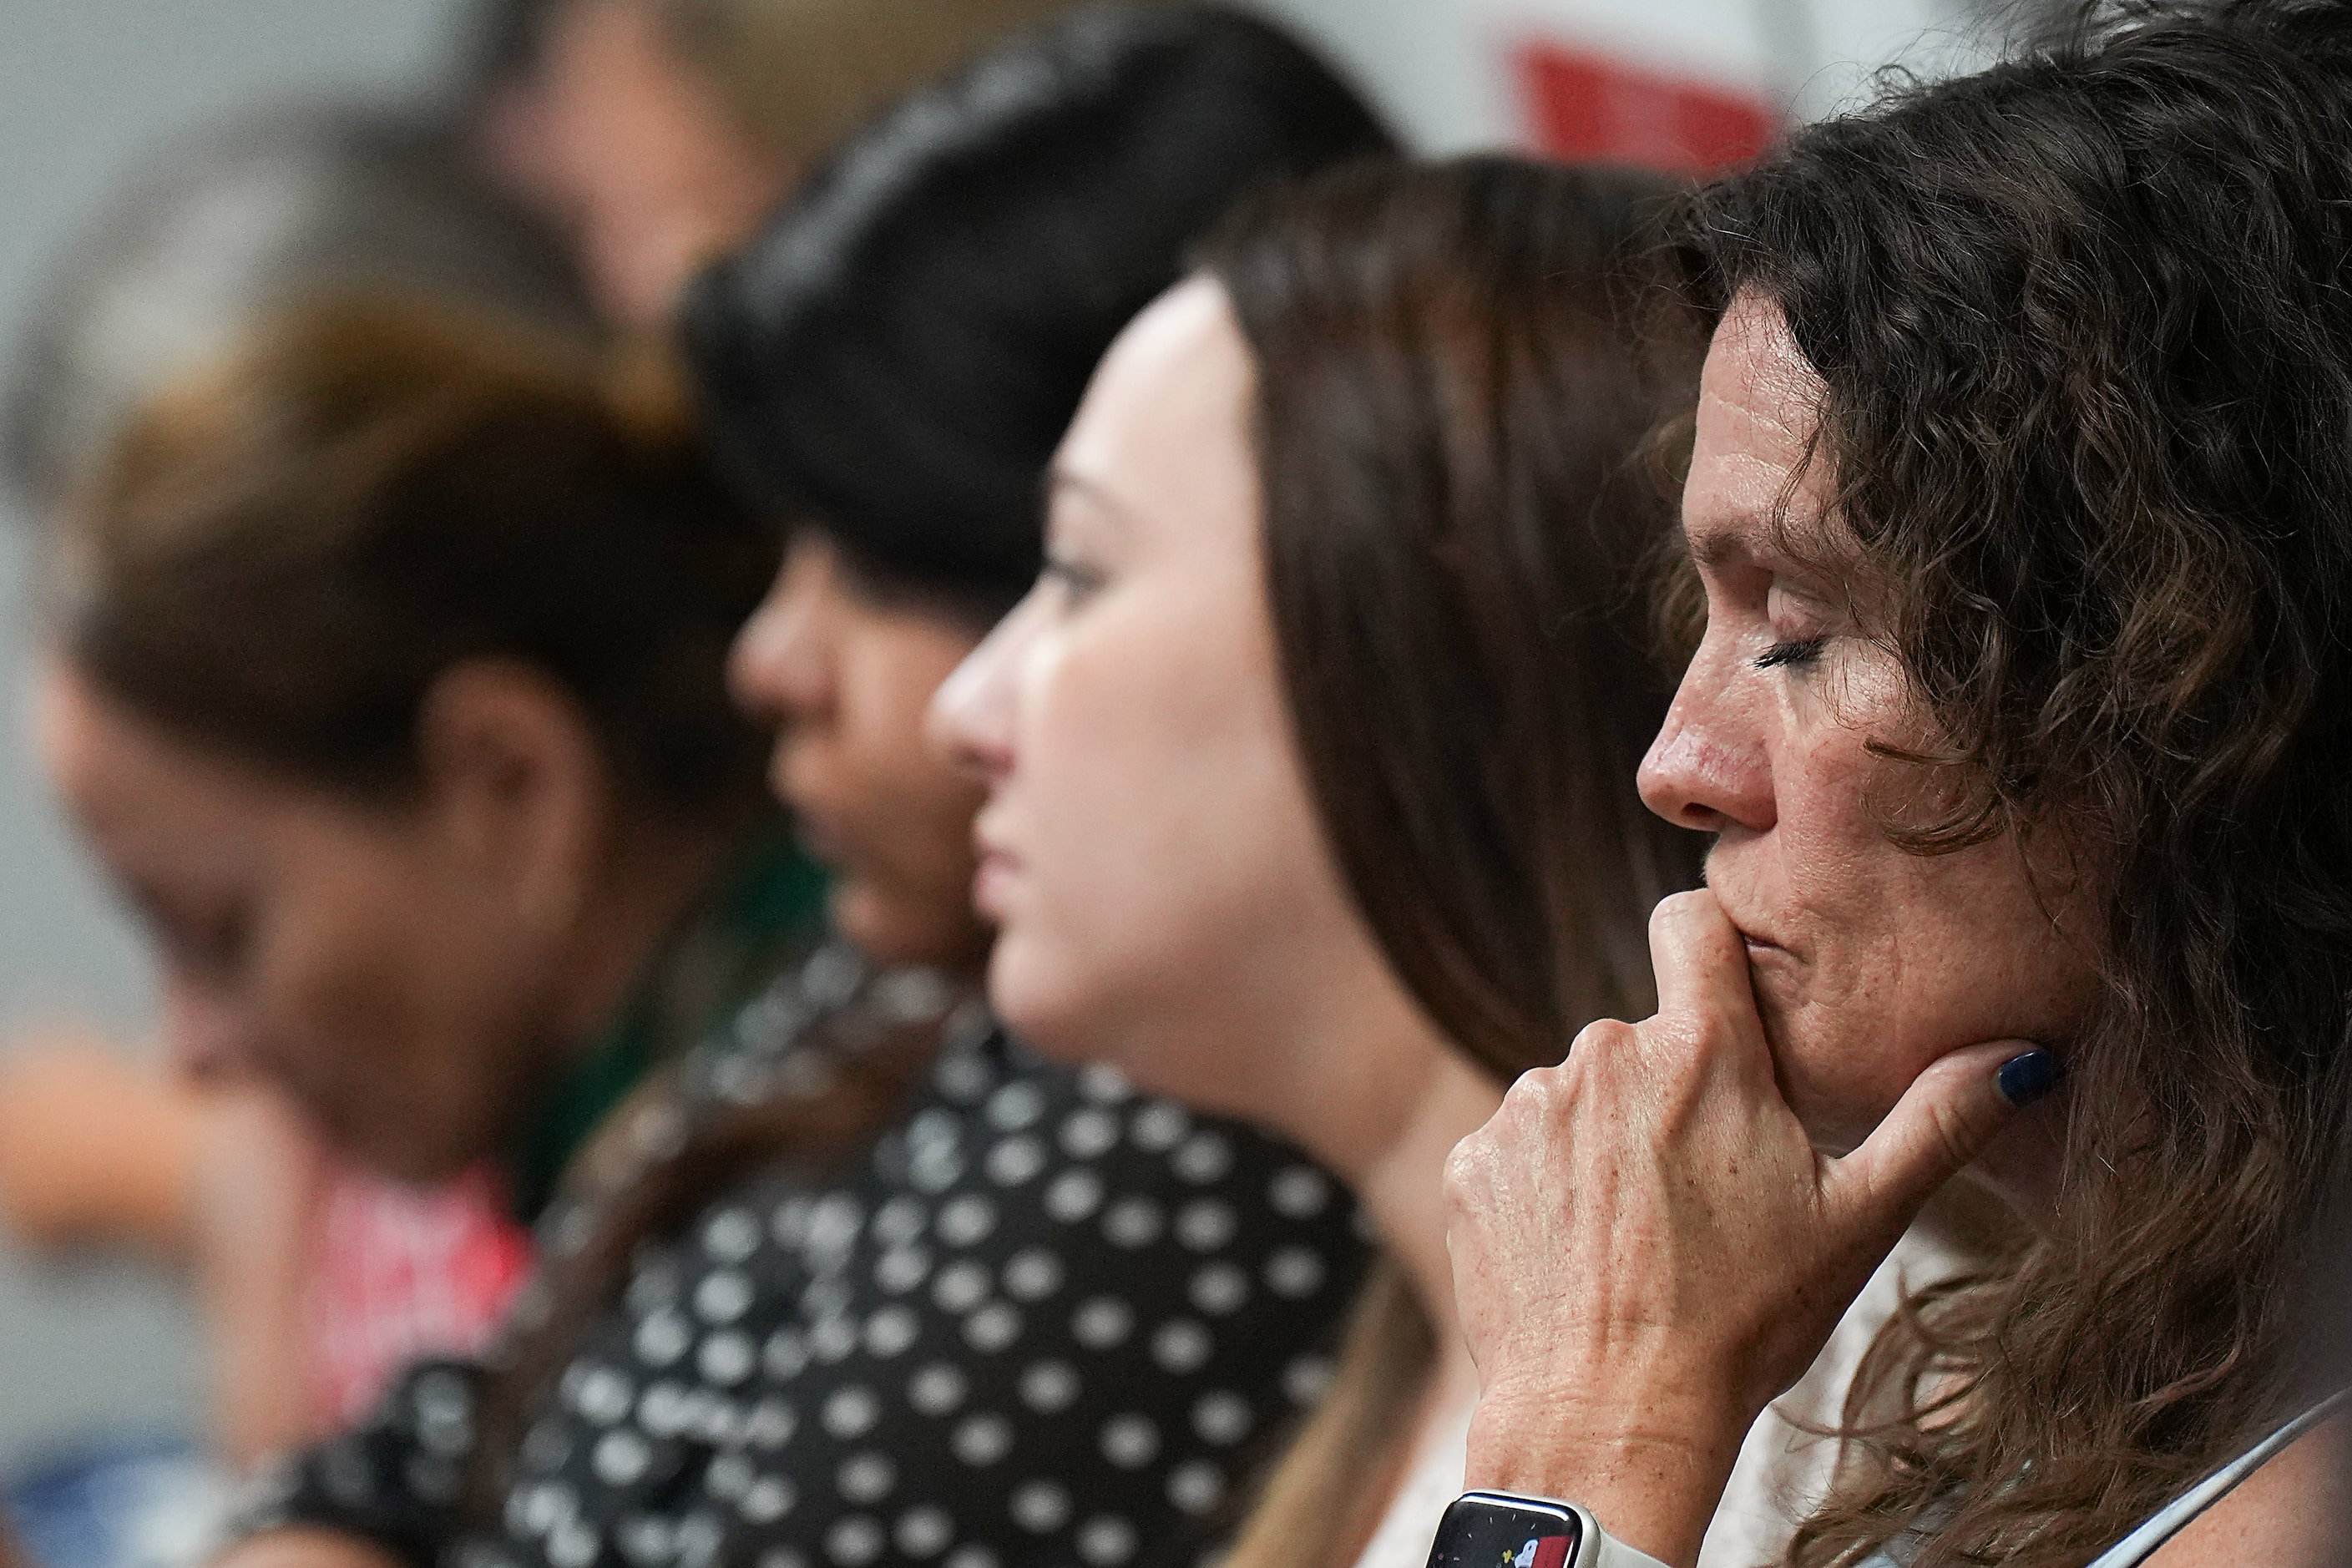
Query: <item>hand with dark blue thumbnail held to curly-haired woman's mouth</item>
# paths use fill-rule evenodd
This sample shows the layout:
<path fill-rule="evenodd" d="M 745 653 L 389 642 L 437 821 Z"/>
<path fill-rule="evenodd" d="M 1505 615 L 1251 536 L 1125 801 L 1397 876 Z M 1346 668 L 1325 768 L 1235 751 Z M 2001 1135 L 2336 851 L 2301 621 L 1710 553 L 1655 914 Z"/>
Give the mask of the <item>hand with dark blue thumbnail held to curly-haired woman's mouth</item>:
<path fill-rule="evenodd" d="M 2016 1114 L 2025 1041 L 1955 1051 L 1842 1159 L 1780 1098 L 1738 929 L 1651 917 L 1658 1016 L 1524 1074 L 1446 1168 L 1454 1293 L 1484 1394 L 1470 1486 L 1566 1497 L 1698 1559 L 1748 1427 L 1804 1375 L 1926 1199 Z M 2046 1056 L 2009 1074 L 2046 1088 Z"/>

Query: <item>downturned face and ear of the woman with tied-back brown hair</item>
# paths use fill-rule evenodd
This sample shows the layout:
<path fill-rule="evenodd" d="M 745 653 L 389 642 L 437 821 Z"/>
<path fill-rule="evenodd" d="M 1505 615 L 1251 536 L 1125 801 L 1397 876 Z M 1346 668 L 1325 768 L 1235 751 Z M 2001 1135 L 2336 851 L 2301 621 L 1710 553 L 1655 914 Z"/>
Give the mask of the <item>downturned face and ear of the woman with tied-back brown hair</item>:
<path fill-rule="evenodd" d="M 532 1041 L 574 936 L 564 893 L 517 882 L 543 844 L 517 844 L 470 785 L 376 804 L 186 745 L 64 658 L 38 731 L 155 938 L 179 1067 L 268 1081 L 405 1180 L 506 1147 L 548 1072 Z"/>

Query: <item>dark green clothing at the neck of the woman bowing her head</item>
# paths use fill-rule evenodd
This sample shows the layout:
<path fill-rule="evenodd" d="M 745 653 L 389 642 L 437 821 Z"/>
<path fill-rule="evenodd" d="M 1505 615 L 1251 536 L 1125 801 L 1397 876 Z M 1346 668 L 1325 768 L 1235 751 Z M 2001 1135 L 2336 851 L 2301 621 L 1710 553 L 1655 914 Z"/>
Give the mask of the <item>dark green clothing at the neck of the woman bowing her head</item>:
<path fill-rule="evenodd" d="M 513 1159 L 515 1218 L 539 1220 L 564 1166 L 644 1081 L 727 1023 L 795 952 L 826 929 L 828 882 L 790 832 L 767 825 L 743 846 L 710 898 L 647 961 L 604 1032 L 546 1091 Z"/>

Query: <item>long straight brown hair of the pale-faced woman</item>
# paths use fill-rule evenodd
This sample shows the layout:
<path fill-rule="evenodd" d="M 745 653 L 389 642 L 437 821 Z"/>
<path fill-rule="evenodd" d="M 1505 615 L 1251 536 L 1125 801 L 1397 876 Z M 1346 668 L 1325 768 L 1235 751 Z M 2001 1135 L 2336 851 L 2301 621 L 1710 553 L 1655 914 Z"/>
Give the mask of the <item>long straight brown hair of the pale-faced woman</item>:
<path fill-rule="evenodd" d="M 1635 795 L 1670 698 L 1646 451 L 1703 346 L 1649 244 L 1672 195 L 1503 158 L 1364 167 L 1207 252 L 1258 369 L 1268 597 L 1322 827 L 1388 961 L 1501 1084 L 1653 1009 L 1649 910 L 1698 882 L 1696 835 Z M 1232 1568 L 1362 1544 L 1435 1349 L 1376 1272 Z"/>

